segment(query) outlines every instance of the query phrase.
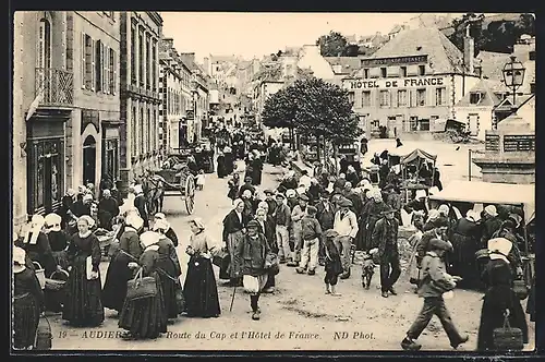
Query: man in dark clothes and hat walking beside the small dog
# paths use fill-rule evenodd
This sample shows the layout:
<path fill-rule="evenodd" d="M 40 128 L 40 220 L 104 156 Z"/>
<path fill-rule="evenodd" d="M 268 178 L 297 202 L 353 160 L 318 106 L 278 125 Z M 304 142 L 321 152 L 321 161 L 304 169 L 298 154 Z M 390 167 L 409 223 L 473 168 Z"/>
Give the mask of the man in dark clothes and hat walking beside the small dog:
<path fill-rule="evenodd" d="M 393 285 L 401 275 L 398 251 L 399 221 L 393 213 L 395 209 L 389 206 L 382 213 L 383 218 L 376 222 L 371 237 L 373 248 L 378 248 L 380 290 L 384 298 L 388 298 L 388 292 L 397 295 Z"/>

